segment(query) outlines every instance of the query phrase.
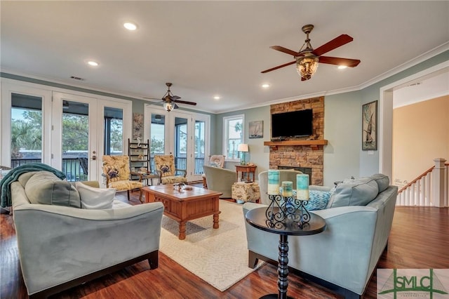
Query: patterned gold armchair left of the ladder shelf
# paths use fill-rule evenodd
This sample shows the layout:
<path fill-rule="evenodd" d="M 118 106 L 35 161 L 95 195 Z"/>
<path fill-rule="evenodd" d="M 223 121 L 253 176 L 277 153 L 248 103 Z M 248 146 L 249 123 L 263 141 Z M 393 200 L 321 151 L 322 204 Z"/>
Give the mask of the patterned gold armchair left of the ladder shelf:
<path fill-rule="evenodd" d="M 142 202 L 142 177 L 139 180 L 130 180 L 128 156 L 103 156 L 103 176 L 106 178 L 106 187 L 117 191 L 127 191 L 128 200 L 130 190 L 139 189 L 139 200 Z"/>

